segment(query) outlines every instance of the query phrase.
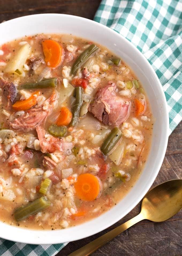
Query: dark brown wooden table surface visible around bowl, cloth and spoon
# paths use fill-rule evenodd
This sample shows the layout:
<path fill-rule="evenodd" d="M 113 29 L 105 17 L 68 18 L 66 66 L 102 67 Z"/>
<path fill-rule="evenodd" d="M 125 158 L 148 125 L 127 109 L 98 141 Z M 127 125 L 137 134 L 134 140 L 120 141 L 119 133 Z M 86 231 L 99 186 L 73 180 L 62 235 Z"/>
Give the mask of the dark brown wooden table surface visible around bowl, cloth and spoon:
<path fill-rule="evenodd" d="M 66 13 L 93 19 L 100 0 L 0 0 L 0 22 L 36 13 Z M 2 35 L 1 35 L 2 36 Z M 168 148 L 161 170 L 153 186 L 170 179 L 182 179 L 182 123 L 169 137 Z M 140 211 L 138 204 L 127 216 L 94 236 L 70 242 L 57 256 L 68 255 L 96 239 Z M 182 211 L 162 223 L 141 221 L 123 232 L 93 255 L 104 256 L 179 256 L 182 255 Z"/>

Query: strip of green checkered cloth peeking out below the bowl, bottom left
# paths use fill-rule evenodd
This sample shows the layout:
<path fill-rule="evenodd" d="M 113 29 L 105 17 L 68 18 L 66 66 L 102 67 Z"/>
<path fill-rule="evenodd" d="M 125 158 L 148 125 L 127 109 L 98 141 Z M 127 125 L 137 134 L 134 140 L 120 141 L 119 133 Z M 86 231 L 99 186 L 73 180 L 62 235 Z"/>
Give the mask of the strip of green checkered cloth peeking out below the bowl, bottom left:
<path fill-rule="evenodd" d="M 61 244 L 23 244 L 14 243 L 9 240 L 0 239 L 0 255 L 1 256 L 54 256 L 67 243 Z"/>

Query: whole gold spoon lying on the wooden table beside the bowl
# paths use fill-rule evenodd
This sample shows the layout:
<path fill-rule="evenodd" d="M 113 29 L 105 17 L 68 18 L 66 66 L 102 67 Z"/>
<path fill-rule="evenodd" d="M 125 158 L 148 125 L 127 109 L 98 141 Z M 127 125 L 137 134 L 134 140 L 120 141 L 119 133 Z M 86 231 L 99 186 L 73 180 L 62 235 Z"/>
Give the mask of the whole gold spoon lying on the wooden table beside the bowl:
<path fill-rule="evenodd" d="M 119 227 L 98 237 L 89 244 L 69 254 L 87 256 L 107 244 L 114 237 L 143 219 L 160 222 L 166 221 L 182 208 L 182 180 L 169 180 L 151 189 L 143 198 L 141 212 Z"/>

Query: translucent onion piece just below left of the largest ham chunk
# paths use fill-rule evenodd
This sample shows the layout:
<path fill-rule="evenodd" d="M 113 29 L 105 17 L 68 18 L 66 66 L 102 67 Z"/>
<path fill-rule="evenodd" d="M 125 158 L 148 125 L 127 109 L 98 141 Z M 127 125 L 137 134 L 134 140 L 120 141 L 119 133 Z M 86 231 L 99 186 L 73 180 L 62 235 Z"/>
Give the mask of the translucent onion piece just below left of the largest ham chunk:
<path fill-rule="evenodd" d="M 101 124 L 94 117 L 86 115 L 85 118 L 80 120 L 77 127 L 84 127 L 85 130 L 100 130 Z"/>

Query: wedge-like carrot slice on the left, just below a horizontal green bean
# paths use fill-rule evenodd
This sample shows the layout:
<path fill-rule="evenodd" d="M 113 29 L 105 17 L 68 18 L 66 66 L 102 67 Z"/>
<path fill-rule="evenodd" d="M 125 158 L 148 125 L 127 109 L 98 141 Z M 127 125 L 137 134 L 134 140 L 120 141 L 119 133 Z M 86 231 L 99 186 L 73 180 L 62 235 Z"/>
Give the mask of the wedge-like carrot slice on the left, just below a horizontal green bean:
<path fill-rule="evenodd" d="M 14 110 L 27 110 L 31 107 L 33 107 L 37 103 L 37 96 L 40 94 L 40 91 L 36 91 L 32 94 L 32 96 L 28 99 L 16 101 L 15 104 L 13 104 Z M 36 96 L 37 95 L 37 96 Z"/>

